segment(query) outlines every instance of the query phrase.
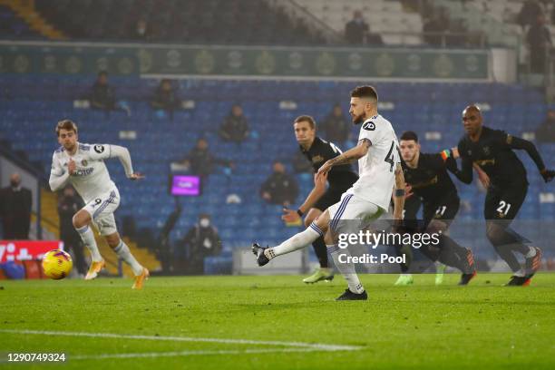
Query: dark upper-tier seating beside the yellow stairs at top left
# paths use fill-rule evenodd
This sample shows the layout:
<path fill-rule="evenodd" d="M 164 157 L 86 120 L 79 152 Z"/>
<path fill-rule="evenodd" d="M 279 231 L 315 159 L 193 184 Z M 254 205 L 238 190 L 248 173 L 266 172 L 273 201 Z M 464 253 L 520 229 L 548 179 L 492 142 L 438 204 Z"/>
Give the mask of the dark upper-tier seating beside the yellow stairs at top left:
<path fill-rule="evenodd" d="M 50 23 L 73 39 L 188 44 L 322 44 L 301 22 L 250 0 L 35 0 Z M 144 38 L 134 30 L 147 24 Z M 230 30 L 233 30 L 230 32 Z"/>

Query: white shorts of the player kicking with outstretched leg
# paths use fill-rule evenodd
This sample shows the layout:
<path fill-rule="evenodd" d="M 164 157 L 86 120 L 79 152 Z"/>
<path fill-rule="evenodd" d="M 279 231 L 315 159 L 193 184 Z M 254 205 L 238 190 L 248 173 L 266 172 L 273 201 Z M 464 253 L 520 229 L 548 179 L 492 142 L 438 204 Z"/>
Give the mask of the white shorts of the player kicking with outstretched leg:
<path fill-rule="evenodd" d="M 374 203 L 368 200 L 363 200 L 355 194 L 343 194 L 333 206 L 330 206 L 329 211 L 329 227 L 333 231 L 345 229 L 358 228 L 360 222 L 356 221 L 370 221 L 379 218 L 384 209 L 381 209 Z M 352 221 L 352 222 L 347 222 Z M 346 225 L 346 224 L 349 225 Z"/>

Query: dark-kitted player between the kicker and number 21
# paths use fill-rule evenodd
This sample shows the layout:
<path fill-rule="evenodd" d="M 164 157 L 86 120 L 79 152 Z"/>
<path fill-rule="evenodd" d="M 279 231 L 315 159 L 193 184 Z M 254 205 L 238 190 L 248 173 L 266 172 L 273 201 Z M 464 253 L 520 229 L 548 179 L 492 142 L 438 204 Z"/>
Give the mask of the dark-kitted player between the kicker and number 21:
<path fill-rule="evenodd" d="M 472 251 L 458 245 L 445 232 L 459 211 L 460 199 L 447 170 L 456 170 L 451 151 L 427 154 L 420 151 L 418 136 L 413 131 L 401 135 L 404 180 L 414 196 L 424 205 L 424 229 L 427 233 L 440 233 L 437 246 L 424 245 L 420 251 L 431 260 L 458 268 L 463 272 L 459 285 L 467 285 L 476 275 Z M 402 274 L 395 285 L 412 284 L 410 274 Z"/>

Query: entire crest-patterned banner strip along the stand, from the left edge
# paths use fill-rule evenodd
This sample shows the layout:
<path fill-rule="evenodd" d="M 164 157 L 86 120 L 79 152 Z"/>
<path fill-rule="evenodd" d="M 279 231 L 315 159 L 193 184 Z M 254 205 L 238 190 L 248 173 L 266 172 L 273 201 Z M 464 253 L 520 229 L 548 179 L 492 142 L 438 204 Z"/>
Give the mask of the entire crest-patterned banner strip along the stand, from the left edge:
<path fill-rule="evenodd" d="M 485 81 L 490 57 L 487 50 L 0 42 L 0 73 Z"/>

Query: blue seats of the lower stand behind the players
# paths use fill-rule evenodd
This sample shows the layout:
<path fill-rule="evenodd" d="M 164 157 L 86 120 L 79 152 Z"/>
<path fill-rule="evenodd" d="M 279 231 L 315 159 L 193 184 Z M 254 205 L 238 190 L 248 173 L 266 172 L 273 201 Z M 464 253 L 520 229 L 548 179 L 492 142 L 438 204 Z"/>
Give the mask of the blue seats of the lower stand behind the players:
<path fill-rule="evenodd" d="M 131 106 L 131 117 L 125 112 L 106 115 L 73 108 L 73 97 L 82 96 L 92 79 L 93 76 L 83 79 L 1 75 L 0 85 L 8 89 L 0 95 L 0 111 L 3 112 L 0 140 L 11 141 L 13 149 L 26 151 L 31 161 L 42 162 L 45 175 L 57 147 L 54 124 L 61 118 L 69 117 L 78 122 L 83 142 L 127 146 L 134 167 L 146 173 L 147 178 L 139 182 L 125 180 L 120 163 L 108 162 L 122 193 L 118 216 L 133 216 L 138 229 L 156 230 L 174 207 L 174 200 L 168 193 L 170 161 L 184 157 L 195 140 L 204 136 L 220 157 L 236 163 L 236 169 L 230 175 L 222 169 L 217 170 L 205 184 L 203 196 L 181 199 L 183 214 L 172 239 L 182 238 L 198 214 L 208 212 L 214 216 L 214 224 L 227 250 L 248 245 L 252 239 L 273 243 L 297 231 L 281 223 L 279 206 L 264 204 L 259 199 L 259 186 L 270 173 L 272 161 L 281 159 L 290 163 L 297 151 L 291 131 L 292 120 L 301 113 L 322 119 L 335 102 L 346 105 L 352 88 L 352 83 L 183 80 L 180 82 L 181 96 L 194 99 L 196 107 L 176 112 L 171 120 L 165 114 L 152 112 L 147 103 L 157 82 L 139 78 L 112 78 L 116 93 Z M 456 144 L 463 133 L 460 114 L 469 102 L 487 102 L 491 108 L 484 110 L 485 121 L 516 135 L 534 131 L 548 109 L 540 92 L 521 85 L 379 83 L 376 86 L 383 101 L 394 103 L 393 110 L 383 110 L 382 114 L 394 122 L 398 134 L 405 130 L 417 131 L 424 151 L 440 151 Z M 297 109 L 280 109 L 279 102 L 284 99 L 296 101 Z M 220 141 L 217 134 L 220 122 L 234 102 L 243 105 L 251 130 L 257 133 L 240 147 Z M 137 131 L 137 139 L 121 140 L 119 132 L 130 130 Z M 435 136 L 435 140 L 426 140 L 426 136 Z M 346 143 L 337 144 L 346 147 Z M 542 144 L 540 151 L 547 164 L 553 167 L 555 144 Z M 528 156 L 521 155 L 521 158 L 529 169 L 531 187 L 520 218 L 553 220 L 553 203 L 540 203 L 539 197 L 540 192 L 549 192 L 549 188 L 543 184 Z M 307 194 L 312 185 L 311 177 L 297 175 L 297 179 L 301 194 Z M 464 203 L 459 219 L 482 219 L 482 191 L 475 185 L 457 183 L 457 186 Z M 239 195 L 241 204 L 226 204 L 232 193 Z"/>

